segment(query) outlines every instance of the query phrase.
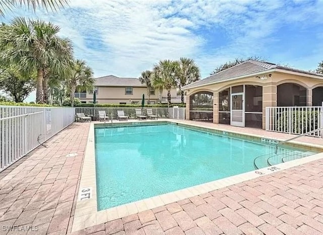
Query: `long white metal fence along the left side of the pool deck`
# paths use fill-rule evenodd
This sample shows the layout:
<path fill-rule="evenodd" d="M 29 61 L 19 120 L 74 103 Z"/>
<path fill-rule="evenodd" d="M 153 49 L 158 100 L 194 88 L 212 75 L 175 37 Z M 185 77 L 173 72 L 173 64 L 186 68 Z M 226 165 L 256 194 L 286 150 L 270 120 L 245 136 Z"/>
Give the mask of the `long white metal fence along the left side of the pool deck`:
<path fill-rule="evenodd" d="M 75 108 L 0 106 L 0 172 L 75 120 Z"/>

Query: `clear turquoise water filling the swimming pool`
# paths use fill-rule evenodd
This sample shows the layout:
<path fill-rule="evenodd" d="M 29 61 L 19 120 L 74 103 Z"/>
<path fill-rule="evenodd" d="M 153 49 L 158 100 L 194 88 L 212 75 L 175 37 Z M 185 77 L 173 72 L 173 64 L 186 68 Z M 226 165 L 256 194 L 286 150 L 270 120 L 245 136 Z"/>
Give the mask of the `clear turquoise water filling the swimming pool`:
<path fill-rule="evenodd" d="M 172 124 L 95 128 L 98 210 L 254 170 L 274 151 Z"/>

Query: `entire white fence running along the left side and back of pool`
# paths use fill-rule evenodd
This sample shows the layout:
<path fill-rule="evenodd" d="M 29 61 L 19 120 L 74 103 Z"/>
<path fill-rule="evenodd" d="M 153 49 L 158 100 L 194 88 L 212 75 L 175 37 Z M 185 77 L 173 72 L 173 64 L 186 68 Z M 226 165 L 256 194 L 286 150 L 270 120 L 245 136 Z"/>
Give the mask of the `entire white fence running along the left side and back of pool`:
<path fill-rule="evenodd" d="M 117 111 L 123 110 L 135 118 L 135 109 L 0 106 L 0 172 L 72 124 L 76 113 L 96 117 L 99 110 L 104 110 L 116 119 Z M 150 109 L 159 118 L 185 119 L 185 108 Z"/>

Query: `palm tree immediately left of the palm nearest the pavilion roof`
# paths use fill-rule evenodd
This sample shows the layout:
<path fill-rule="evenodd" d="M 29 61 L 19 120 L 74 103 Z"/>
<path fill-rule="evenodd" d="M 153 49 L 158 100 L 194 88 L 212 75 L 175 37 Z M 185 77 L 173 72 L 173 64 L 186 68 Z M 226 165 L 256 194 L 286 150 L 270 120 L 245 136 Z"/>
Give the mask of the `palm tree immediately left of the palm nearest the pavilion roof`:
<path fill-rule="evenodd" d="M 171 104 L 171 89 L 176 86 L 177 61 L 163 60 L 153 67 L 153 84 L 163 85 L 167 89 L 167 103 Z"/>

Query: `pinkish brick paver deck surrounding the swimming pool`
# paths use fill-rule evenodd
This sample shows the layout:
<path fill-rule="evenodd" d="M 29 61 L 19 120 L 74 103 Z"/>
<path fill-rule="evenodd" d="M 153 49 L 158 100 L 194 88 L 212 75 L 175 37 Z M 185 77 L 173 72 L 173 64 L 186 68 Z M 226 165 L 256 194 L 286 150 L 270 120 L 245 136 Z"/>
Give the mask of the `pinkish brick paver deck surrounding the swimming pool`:
<path fill-rule="evenodd" d="M 129 120 L 130 121 L 130 120 Z M 294 135 L 205 122 L 200 126 L 288 139 Z M 73 123 L 0 172 L 0 234 L 71 234 L 90 123 Z M 323 139 L 297 142 L 323 145 Z M 66 155 L 76 153 L 76 156 Z M 38 226 L 8 231 L 3 226 Z M 323 159 L 146 210 L 73 234 L 322 234 Z"/>

